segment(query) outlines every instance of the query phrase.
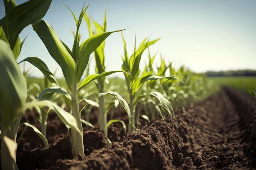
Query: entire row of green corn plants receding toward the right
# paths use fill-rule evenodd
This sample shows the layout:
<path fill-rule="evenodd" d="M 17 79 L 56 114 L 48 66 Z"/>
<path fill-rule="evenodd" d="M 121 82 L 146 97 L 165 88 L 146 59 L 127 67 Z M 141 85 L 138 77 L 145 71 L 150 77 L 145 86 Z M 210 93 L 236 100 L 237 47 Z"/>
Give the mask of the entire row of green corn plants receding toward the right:
<path fill-rule="evenodd" d="M 209 91 L 206 92 L 205 90 L 209 90 L 212 86 L 202 75 L 186 71 L 183 67 L 175 71 L 172 64 L 169 63 L 166 66 L 163 59 L 161 65 L 157 67 L 157 71 L 154 71 L 153 64 L 156 55 L 151 57 L 149 52 L 148 64 L 144 69 L 140 68 L 144 51 L 148 50 L 149 46 L 155 44 L 159 39 L 149 40 L 145 38 L 137 47 L 135 38 L 134 51 L 129 56 L 125 38 L 121 34 L 124 43 L 121 70 L 105 71 L 104 48 L 106 38 L 112 33 L 122 33 L 126 30 L 107 32 L 106 13 L 101 26 L 92 17 L 86 15 L 85 11 L 88 6 L 83 6 L 79 18 L 76 18 L 73 11 L 67 7 L 76 24 L 76 30 L 72 31 L 74 43 L 70 49 L 58 38 L 54 28 L 45 20 L 41 20 L 51 2 L 52 0 L 29 0 L 24 4 L 17 5 L 14 0 L 4 0 L 6 15 L 0 20 L 0 71 L 3 79 L 0 82 L 2 169 L 18 169 L 15 153 L 19 141 L 17 140 L 17 132 L 21 126 L 22 113 L 25 113 L 27 109 L 35 108 L 37 110 L 41 127 L 38 130 L 26 122 L 22 125 L 33 128 L 43 139 L 45 147 L 48 147 L 46 139 L 47 117 L 49 112 L 54 110 L 67 126 L 74 157 L 79 157 L 80 154 L 84 156 L 82 123 L 93 126 L 88 122 L 88 119 L 87 121 L 81 119 L 83 109 L 88 109 L 86 111 L 90 112 L 90 107 L 85 108 L 84 106 L 79 109 L 82 102 L 88 106 L 98 107 L 98 126 L 104 132 L 110 145 L 111 141 L 108 139 L 107 133 L 108 126 L 113 122 L 121 122 L 126 129 L 126 124 L 120 119 L 114 119 L 113 116 L 107 120 L 109 110 L 113 111 L 118 106 L 122 106 L 128 114 L 128 132 L 131 132 L 136 130 L 141 116 L 149 121 L 149 117 L 154 118 L 156 117 L 155 113 L 158 113 L 159 117 L 164 120 L 166 115 L 172 117 L 175 109 L 192 105 L 209 95 Z M 81 42 L 79 29 L 83 19 L 88 26 L 89 38 Z M 16 60 L 24 43 L 24 40 L 20 42 L 19 34 L 30 24 L 45 44 L 51 57 L 61 67 L 64 77 L 64 81 L 61 83 L 42 60 L 37 57 L 27 57 L 21 62 L 31 63 L 45 75 L 43 87 L 36 83 L 27 86 L 26 78 L 29 79 L 29 73 L 25 71 L 22 74 L 18 66 L 21 62 L 18 63 Z M 95 74 L 89 74 L 88 71 L 92 53 L 94 53 L 96 62 Z M 105 86 L 108 82 L 106 76 L 117 72 L 124 73 L 124 82 L 127 85 L 126 92 L 118 91 L 120 88 L 117 87 L 117 84 L 108 85 L 108 88 Z M 82 79 L 83 75 L 85 78 Z M 90 93 L 92 86 L 97 88 L 97 92 Z M 119 84 L 120 86 L 123 85 Z M 109 100 L 110 97 L 106 98 L 106 95 L 110 95 L 114 100 Z M 94 96 L 94 99 L 90 100 L 89 96 Z M 184 98 L 186 100 L 183 100 Z M 181 101 L 186 101 L 186 103 L 180 104 Z M 174 109 L 171 102 L 174 103 Z M 57 104 L 61 104 L 61 107 Z M 140 115 L 140 106 L 153 108 L 149 109 L 150 114 Z"/>

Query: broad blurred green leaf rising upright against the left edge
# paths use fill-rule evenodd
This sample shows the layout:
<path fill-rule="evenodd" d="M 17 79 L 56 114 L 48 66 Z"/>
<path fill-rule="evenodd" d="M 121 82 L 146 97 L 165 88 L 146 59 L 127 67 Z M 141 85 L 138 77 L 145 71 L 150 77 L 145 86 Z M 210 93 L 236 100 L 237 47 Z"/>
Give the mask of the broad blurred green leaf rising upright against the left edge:
<path fill-rule="evenodd" d="M 2 127 L 20 114 L 27 99 L 27 83 L 9 45 L 0 40 L 0 114 Z"/>

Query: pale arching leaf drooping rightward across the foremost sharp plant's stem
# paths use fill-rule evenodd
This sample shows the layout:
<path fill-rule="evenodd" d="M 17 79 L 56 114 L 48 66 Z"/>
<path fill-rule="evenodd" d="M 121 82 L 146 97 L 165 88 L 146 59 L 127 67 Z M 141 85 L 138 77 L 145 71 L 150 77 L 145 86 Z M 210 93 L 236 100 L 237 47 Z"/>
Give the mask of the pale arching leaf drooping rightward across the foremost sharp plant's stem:
<path fill-rule="evenodd" d="M 23 110 L 26 110 L 34 106 L 46 106 L 46 107 L 52 108 L 56 113 L 56 115 L 61 119 L 61 121 L 66 126 L 70 126 L 71 128 L 75 129 L 77 132 L 79 132 L 80 135 L 82 135 L 76 124 L 76 119 L 74 118 L 74 116 L 72 116 L 70 113 L 63 110 L 63 108 L 61 108 L 60 106 L 54 104 L 49 100 L 35 100 L 32 102 L 26 103 L 19 111 L 22 112 Z"/>

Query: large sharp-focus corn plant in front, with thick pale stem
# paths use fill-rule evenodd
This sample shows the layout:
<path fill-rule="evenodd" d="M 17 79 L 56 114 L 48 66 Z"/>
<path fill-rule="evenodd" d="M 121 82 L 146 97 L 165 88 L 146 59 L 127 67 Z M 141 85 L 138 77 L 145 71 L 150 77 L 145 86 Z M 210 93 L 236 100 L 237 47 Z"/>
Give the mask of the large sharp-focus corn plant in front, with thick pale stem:
<path fill-rule="evenodd" d="M 74 13 L 69 9 L 74 17 L 76 23 L 76 33 L 74 33 L 74 44 L 72 50 L 64 44 L 59 38 L 52 26 L 44 21 L 40 20 L 36 24 L 33 24 L 33 29 L 36 31 L 40 39 L 45 44 L 47 50 L 53 59 L 58 63 L 63 71 L 65 77 L 65 82 L 70 90 L 70 94 L 61 89 L 59 86 L 46 88 L 40 93 L 40 99 L 46 98 L 50 99 L 54 93 L 61 93 L 65 99 L 65 102 L 71 108 L 71 114 L 76 119 L 76 124 L 78 125 L 79 132 L 71 128 L 71 143 L 73 147 L 74 157 L 79 157 L 79 154 L 84 156 L 84 146 L 83 146 L 83 128 L 81 124 L 81 115 L 79 111 L 79 101 L 78 101 L 78 92 L 87 86 L 90 82 L 95 79 L 99 79 L 115 73 L 117 71 L 103 72 L 101 74 L 92 74 L 88 75 L 80 83 L 81 77 L 85 71 L 85 68 L 88 66 L 90 59 L 90 54 L 93 53 L 101 43 L 111 34 L 117 31 L 99 33 L 91 36 L 87 40 L 80 42 L 79 28 L 83 15 L 85 14 L 86 9 L 82 9 L 79 18 L 77 19 Z M 28 61 L 37 68 L 49 79 L 50 82 L 56 82 L 54 75 L 49 71 L 46 64 L 36 58 L 29 57 L 23 61 Z"/>

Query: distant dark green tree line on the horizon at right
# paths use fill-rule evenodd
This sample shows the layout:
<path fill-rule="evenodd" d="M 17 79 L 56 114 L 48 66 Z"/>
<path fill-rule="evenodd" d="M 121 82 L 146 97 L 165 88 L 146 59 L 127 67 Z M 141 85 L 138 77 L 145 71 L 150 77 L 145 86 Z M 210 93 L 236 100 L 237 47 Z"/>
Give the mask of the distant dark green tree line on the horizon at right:
<path fill-rule="evenodd" d="M 207 71 L 207 77 L 218 76 L 256 76 L 256 70 L 237 70 L 237 71 Z"/>

